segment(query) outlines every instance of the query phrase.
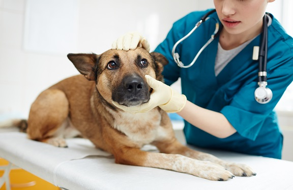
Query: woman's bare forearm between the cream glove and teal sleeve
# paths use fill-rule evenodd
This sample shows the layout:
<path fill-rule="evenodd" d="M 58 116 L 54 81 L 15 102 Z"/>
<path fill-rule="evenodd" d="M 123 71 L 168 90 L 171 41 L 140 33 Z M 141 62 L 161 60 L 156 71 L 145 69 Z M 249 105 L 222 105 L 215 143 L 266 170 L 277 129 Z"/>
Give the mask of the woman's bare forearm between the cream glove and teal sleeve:
<path fill-rule="evenodd" d="M 236 133 L 222 113 L 201 108 L 189 101 L 177 113 L 192 125 L 215 137 L 226 138 Z"/>

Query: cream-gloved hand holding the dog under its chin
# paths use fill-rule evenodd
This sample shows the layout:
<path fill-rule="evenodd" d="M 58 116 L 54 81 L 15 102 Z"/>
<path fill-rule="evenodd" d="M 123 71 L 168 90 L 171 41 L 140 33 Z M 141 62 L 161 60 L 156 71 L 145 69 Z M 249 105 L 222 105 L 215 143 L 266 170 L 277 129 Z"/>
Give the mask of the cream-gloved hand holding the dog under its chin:
<path fill-rule="evenodd" d="M 148 84 L 153 88 L 150 101 L 138 106 L 123 106 L 114 101 L 114 106 L 130 113 L 143 113 L 152 110 L 159 106 L 161 109 L 169 113 L 181 111 L 186 104 L 186 96 L 173 90 L 170 86 L 152 78 L 150 75 L 145 75 Z"/>

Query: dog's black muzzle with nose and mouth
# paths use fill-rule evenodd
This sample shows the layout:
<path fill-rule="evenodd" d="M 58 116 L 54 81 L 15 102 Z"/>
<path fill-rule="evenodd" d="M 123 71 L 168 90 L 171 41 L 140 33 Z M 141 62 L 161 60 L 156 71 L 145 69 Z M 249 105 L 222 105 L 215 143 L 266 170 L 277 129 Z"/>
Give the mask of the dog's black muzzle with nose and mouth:
<path fill-rule="evenodd" d="M 149 85 L 138 74 L 127 75 L 112 92 L 112 100 L 124 106 L 136 106 L 150 100 Z"/>

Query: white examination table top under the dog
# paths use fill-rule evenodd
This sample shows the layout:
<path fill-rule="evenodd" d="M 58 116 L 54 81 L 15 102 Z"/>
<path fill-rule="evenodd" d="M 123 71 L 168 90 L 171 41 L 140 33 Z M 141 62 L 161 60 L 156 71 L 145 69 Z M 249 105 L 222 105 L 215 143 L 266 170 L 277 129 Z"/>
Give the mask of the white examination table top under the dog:
<path fill-rule="evenodd" d="M 257 173 L 210 181 L 168 170 L 114 163 L 109 153 L 86 139 L 67 139 L 69 148 L 32 141 L 18 132 L 0 133 L 0 157 L 57 186 L 82 189 L 293 189 L 293 162 L 232 152 L 202 150 L 247 164 Z M 153 149 L 148 146 L 146 149 Z"/>

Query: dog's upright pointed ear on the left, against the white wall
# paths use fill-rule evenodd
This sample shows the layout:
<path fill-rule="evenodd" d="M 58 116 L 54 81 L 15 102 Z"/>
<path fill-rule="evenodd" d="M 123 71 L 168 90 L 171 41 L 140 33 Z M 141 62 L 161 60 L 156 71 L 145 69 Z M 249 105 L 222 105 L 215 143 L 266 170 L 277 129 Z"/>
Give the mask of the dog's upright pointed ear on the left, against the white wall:
<path fill-rule="evenodd" d="M 69 53 L 67 57 L 87 80 L 95 80 L 95 68 L 99 55 L 95 53 Z"/>

